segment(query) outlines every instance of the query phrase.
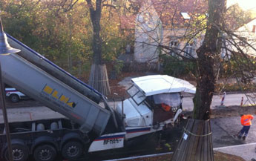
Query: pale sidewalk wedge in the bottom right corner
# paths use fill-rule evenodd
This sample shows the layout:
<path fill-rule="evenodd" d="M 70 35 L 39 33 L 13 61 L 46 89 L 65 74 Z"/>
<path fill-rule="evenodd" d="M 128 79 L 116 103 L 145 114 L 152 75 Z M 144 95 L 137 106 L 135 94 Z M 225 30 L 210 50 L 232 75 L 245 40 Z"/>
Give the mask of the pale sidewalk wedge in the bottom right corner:
<path fill-rule="evenodd" d="M 242 157 L 246 161 L 251 161 L 252 158 L 256 159 L 255 153 L 256 142 L 243 144 L 243 145 L 232 145 L 221 148 L 214 148 L 214 151 L 220 151 L 226 154 L 232 154 Z"/>

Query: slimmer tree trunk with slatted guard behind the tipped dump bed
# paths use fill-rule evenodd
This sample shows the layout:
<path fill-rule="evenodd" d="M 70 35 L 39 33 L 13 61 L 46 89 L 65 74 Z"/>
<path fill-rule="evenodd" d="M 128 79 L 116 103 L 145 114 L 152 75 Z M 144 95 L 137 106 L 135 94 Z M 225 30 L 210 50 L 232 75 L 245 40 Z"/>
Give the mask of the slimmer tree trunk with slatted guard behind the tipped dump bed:
<path fill-rule="evenodd" d="M 111 93 L 108 83 L 108 72 L 102 62 L 102 39 L 100 37 L 100 18 L 102 12 L 102 0 L 96 0 L 95 10 L 91 0 L 87 0 L 90 9 L 91 22 L 93 24 L 93 65 L 89 85 L 104 95 Z"/>

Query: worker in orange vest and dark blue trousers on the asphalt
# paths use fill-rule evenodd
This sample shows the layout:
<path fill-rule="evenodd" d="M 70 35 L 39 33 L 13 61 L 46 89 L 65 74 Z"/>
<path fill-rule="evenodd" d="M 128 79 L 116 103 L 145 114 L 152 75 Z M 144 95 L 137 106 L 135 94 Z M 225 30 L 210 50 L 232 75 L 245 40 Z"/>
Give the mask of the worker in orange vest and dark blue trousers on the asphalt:
<path fill-rule="evenodd" d="M 253 119 L 252 114 L 241 114 L 241 124 L 243 125 L 243 128 L 240 130 L 238 134 L 238 139 L 241 139 L 243 136 L 243 140 L 246 139 L 249 129 L 252 125 L 251 120 Z M 244 134 L 244 135 L 243 135 Z"/>

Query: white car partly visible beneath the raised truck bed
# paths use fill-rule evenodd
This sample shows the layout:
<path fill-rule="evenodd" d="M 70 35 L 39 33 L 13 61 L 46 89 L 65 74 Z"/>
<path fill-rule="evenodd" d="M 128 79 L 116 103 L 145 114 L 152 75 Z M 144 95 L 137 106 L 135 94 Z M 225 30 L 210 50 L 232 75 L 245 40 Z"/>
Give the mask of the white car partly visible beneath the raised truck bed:
<path fill-rule="evenodd" d="M 11 102 L 19 102 L 20 99 L 28 98 L 28 96 L 15 88 L 5 88 L 5 96 L 7 96 Z"/>

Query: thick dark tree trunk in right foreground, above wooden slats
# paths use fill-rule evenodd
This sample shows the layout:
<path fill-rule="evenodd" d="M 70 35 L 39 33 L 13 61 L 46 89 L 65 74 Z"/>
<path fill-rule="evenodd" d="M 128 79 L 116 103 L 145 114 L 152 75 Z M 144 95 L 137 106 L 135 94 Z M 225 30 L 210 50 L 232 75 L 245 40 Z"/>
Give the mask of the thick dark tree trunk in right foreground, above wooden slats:
<path fill-rule="evenodd" d="M 215 66 L 220 61 L 220 28 L 226 0 L 209 0 L 209 18 L 203 45 L 197 50 L 197 91 L 194 96 L 194 119 L 209 119 L 215 88 Z"/>

